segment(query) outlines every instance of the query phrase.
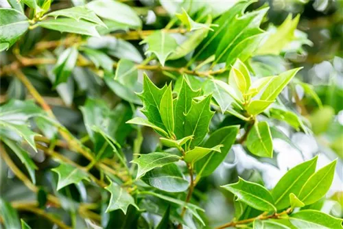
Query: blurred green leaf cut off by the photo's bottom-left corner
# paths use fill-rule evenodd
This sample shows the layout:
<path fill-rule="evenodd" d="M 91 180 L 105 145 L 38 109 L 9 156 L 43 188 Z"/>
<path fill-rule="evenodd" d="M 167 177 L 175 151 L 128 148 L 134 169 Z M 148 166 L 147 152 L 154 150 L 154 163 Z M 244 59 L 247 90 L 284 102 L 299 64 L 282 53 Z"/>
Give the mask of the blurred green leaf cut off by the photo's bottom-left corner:
<path fill-rule="evenodd" d="M 5 202 L 2 197 L 0 198 L 0 213 L 5 228 L 21 228 L 18 213 L 11 204 Z"/>

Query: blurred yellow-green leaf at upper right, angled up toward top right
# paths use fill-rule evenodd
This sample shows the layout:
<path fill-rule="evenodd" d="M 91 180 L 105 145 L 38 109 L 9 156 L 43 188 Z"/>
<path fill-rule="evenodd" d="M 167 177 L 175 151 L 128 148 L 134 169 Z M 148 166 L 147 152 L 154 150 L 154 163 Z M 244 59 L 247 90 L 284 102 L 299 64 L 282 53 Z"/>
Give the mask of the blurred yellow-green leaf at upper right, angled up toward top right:
<path fill-rule="evenodd" d="M 283 23 L 274 29 L 274 32 L 269 31 L 270 35 L 265 39 L 263 45 L 257 50 L 258 55 L 272 54 L 279 55 L 284 47 L 294 39 L 294 32 L 298 25 L 300 14 L 292 19 L 292 14 L 288 14 Z"/>

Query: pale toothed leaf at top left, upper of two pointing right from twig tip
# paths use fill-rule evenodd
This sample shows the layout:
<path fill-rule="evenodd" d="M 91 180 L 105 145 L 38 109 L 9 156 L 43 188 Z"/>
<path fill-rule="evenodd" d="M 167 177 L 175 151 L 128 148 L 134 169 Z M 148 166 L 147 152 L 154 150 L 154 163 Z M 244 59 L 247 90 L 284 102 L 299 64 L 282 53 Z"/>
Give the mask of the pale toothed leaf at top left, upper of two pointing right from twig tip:
<path fill-rule="evenodd" d="M 84 5 L 82 6 L 75 6 L 73 8 L 67 8 L 63 10 L 56 10 L 47 14 L 47 16 L 54 16 L 57 19 L 58 16 L 66 16 L 71 19 L 75 19 L 76 21 L 80 21 L 80 19 L 84 19 L 85 21 L 93 22 L 97 25 L 102 25 L 106 27 L 106 25 L 100 20 L 93 10 L 87 9 Z"/>

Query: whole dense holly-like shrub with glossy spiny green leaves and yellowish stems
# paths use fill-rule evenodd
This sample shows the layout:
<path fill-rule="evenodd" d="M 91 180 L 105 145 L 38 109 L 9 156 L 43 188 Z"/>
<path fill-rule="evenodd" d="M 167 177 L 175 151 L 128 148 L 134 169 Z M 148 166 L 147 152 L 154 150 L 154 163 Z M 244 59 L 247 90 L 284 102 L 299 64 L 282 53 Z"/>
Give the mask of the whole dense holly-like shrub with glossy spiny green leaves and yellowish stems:
<path fill-rule="evenodd" d="M 298 110 L 322 101 L 286 61 L 313 45 L 301 15 L 276 26 L 268 12 L 254 1 L 1 2 L 0 223 L 342 228 L 322 210 L 340 160 L 304 154 L 273 186 L 261 167 L 228 164 L 241 147 L 276 168 L 276 139 L 301 153 L 290 136 L 318 129 Z M 218 193 L 227 215 L 208 206 Z"/>

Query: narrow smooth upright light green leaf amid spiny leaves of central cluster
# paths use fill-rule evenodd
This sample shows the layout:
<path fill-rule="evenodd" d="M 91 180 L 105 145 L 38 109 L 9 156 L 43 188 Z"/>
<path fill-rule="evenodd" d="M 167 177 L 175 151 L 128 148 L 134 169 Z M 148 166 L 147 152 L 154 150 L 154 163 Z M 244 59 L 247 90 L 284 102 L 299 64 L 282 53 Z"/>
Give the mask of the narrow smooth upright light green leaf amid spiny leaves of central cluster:
<path fill-rule="evenodd" d="M 169 136 L 174 135 L 174 104 L 173 95 L 171 93 L 171 84 L 167 87 L 165 93 L 163 93 L 160 102 L 160 114 L 163 124 L 169 132 Z"/>

